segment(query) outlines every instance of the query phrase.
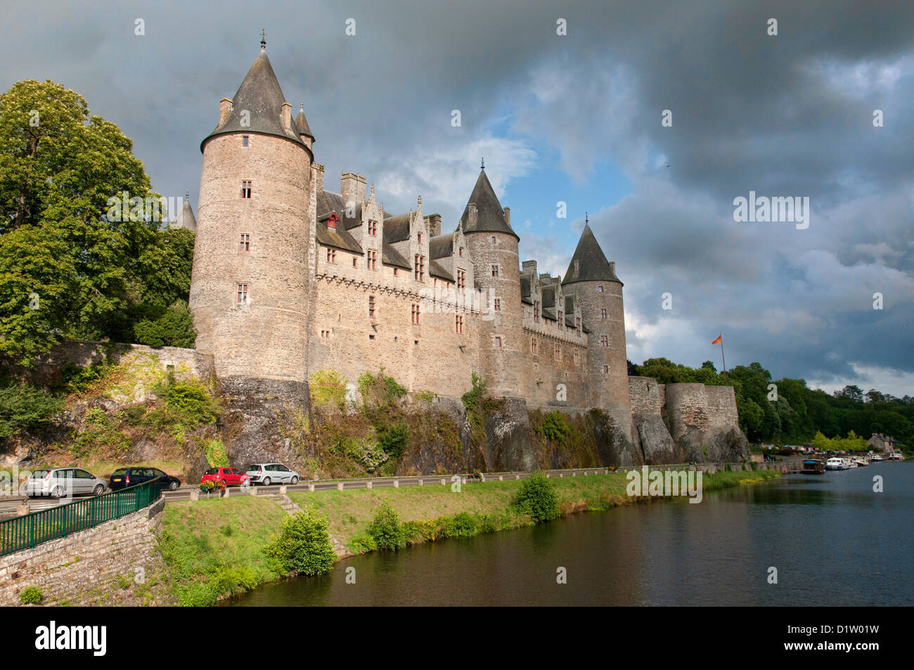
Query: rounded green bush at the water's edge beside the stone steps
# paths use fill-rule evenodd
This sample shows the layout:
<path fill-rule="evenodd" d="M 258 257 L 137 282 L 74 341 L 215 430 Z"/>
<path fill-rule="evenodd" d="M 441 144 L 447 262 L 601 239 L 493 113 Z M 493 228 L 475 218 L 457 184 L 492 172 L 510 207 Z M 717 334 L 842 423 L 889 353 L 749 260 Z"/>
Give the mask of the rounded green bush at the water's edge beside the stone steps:
<path fill-rule="evenodd" d="M 328 523 L 314 507 L 306 506 L 282 521 L 280 534 L 263 548 L 271 569 L 282 574 L 322 575 L 334 566 Z"/>

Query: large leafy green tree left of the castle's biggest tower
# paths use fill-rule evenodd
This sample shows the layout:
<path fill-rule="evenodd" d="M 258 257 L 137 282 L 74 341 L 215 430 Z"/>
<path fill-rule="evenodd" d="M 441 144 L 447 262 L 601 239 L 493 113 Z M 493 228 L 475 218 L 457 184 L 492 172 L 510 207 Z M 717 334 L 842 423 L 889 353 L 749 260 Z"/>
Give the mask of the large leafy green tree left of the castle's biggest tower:
<path fill-rule="evenodd" d="M 0 94 L 0 358 L 29 364 L 61 339 L 129 330 L 151 295 L 163 311 L 186 299 L 186 240 L 173 249 L 175 231 L 135 207 L 110 220 L 124 192 L 158 198 L 133 142 L 78 93 L 26 80 Z"/>

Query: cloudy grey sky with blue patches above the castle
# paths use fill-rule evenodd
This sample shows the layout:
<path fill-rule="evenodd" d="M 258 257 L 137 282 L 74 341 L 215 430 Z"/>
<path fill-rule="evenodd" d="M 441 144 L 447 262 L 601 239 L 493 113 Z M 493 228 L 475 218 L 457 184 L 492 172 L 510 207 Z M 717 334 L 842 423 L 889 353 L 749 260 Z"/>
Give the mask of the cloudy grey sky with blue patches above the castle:
<path fill-rule="evenodd" d="M 909 0 L 38 0 L 5 8 L 0 88 L 78 91 L 196 211 L 261 28 L 328 189 L 352 170 L 451 230 L 484 158 L 521 260 L 554 275 L 587 213 L 632 361 L 719 369 L 722 333 L 728 367 L 914 395 Z M 808 218 L 736 220 L 750 192 Z"/>

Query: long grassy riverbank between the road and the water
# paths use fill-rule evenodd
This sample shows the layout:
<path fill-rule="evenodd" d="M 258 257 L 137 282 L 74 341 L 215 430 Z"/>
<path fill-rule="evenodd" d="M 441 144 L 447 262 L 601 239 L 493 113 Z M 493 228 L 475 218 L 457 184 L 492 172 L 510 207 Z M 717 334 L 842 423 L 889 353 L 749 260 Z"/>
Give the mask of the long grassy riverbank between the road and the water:
<path fill-rule="evenodd" d="M 756 484 L 780 476 L 774 471 L 720 472 L 703 477 L 704 492 Z M 522 480 L 523 481 L 523 480 Z M 521 526 L 529 516 L 511 501 L 522 481 L 429 484 L 403 488 L 291 492 L 298 505 L 313 505 L 329 521 L 329 531 L 354 554 L 374 550 L 367 526 L 377 506 L 388 502 L 398 513 L 408 544 L 471 537 Z M 626 494 L 623 473 L 552 478 L 561 516 L 602 511 L 650 500 Z M 212 605 L 285 575 L 271 569 L 262 548 L 279 533 L 287 516 L 271 499 L 229 496 L 165 505 L 160 543 L 175 598 L 182 605 Z"/>

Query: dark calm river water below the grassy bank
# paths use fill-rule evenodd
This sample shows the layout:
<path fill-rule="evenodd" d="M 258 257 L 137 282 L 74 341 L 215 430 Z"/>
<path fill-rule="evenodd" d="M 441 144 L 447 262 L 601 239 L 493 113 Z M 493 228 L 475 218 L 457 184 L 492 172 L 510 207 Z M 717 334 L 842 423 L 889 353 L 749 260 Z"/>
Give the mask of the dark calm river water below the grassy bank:
<path fill-rule="evenodd" d="M 875 475 L 884 493 L 873 492 Z M 697 505 L 627 505 L 377 552 L 225 604 L 911 605 L 914 462 L 785 475 Z"/>

